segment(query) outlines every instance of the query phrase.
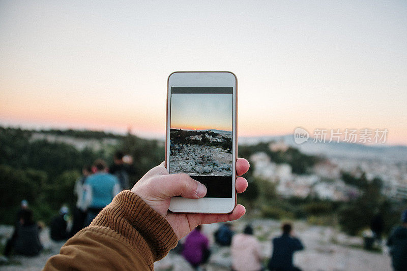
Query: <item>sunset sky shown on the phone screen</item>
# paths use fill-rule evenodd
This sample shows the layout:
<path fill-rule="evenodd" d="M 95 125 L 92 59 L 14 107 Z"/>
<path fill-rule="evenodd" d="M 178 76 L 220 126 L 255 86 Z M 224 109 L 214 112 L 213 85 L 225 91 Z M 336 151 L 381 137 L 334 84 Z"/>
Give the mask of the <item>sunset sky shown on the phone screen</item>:
<path fill-rule="evenodd" d="M 232 94 L 171 94 L 171 128 L 232 130 Z"/>

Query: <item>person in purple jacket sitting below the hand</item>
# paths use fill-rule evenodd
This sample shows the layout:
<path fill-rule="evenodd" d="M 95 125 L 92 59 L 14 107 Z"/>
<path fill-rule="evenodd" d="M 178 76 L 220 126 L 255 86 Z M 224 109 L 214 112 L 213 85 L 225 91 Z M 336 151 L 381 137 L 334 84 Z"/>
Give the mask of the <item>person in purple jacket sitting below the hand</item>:
<path fill-rule="evenodd" d="M 196 269 L 209 258 L 209 241 L 201 232 L 201 225 L 191 231 L 184 244 L 182 256 Z"/>

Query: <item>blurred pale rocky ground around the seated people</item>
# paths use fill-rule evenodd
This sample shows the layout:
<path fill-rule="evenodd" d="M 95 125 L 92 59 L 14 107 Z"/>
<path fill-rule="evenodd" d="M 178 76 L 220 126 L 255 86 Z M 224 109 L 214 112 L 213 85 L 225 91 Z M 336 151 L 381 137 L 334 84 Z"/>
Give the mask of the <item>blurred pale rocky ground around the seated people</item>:
<path fill-rule="evenodd" d="M 242 231 L 246 222 L 239 220 L 234 223 L 235 231 Z M 255 235 L 263 248 L 265 263 L 270 257 L 271 239 L 280 234 L 280 222 L 274 220 L 252 220 Z M 204 225 L 203 231 L 211 241 L 212 255 L 206 270 L 229 270 L 231 263 L 229 248 L 214 245 L 213 232 L 218 224 Z M 382 252 L 369 252 L 362 249 L 363 240 L 358 237 L 347 236 L 331 227 L 311 226 L 305 222 L 294 224 L 295 234 L 302 240 L 305 250 L 297 252 L 294 257 L 296 265 L 303 270 L 311 271 L 368 271 L 391 270 L 391 260 L 386 247 Z M 2 244 L 11 235 L 13 228 L 0 226 Z M 1 270 L 41 270 L 47 259 L 59 253 L 64 242 L 53 242 L 49 239 L 49 232 L 41 232 L 41 241 L 45 247 L 37 257 L 13 256 L 8 265 L 0 265 Z M 156 270 L 191 270 L 189 264 L 175 252 L 155 263 Z"/>

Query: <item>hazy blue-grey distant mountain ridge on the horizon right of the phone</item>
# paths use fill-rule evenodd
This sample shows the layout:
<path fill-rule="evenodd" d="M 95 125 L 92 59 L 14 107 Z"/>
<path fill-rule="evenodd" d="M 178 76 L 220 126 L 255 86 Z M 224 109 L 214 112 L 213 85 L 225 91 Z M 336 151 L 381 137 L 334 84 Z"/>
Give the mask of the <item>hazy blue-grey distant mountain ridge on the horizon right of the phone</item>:
<path fill-rule="evenodd" d="M 285 144 L 299 149 L 306 154 L 322 155 L 326 157 L 347 157 L 358 159 L 376 159 L 407 162 L 407 146 L 402 145 L 363 145 L 358 143 L 331 142 L 314 143 L 312 138 L 307 142 L 297 144 L 294 142 L 294 135 L 265 136 L 265 137 L 239 137 L 238 144 L 254 145 L 260 142 L 284 142 Z"/>

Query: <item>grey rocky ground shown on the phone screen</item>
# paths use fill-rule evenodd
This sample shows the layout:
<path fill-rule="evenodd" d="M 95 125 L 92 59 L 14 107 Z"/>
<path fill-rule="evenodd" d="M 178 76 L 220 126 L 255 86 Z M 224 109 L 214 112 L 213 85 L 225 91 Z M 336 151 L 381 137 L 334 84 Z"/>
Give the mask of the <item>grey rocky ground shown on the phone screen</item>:
<path fill-rule="evenodd" d="M 232 154 L 222 148 L 203 145 L 184 146 L 169 156 L 170 173 L 196 176 L 231 176 Z"/>

